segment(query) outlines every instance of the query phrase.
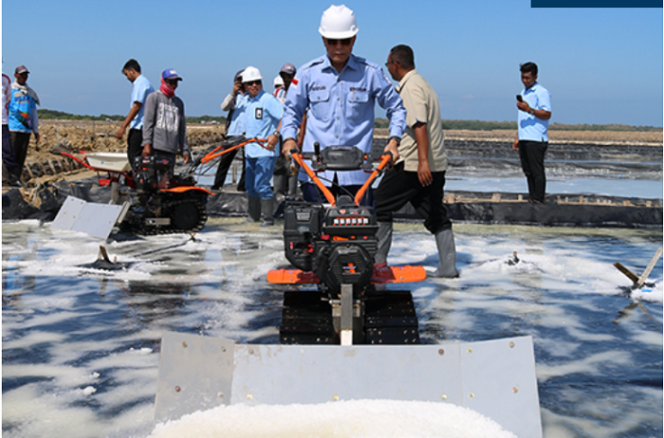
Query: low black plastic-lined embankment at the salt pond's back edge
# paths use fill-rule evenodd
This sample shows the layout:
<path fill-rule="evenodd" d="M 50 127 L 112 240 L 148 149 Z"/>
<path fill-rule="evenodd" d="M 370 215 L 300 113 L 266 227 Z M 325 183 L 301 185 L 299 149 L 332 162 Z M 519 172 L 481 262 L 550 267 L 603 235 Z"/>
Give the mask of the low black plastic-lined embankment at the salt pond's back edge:
<path fill-rule="evenodd" d="M 49 190 L 39 193 L 41 205 L 39 208 L 23 200 L 18 189 L 12 189 L 2 196 L 3 220 L 38 219 L 43 222 L 53 220 L 60 206 L 68 195 L 75 196 L 87 202 L 108 203 L 110 201 L 110 188 L 99 187 L 96 181 L 79 181 L 76 183 L 61 182 Z M 450 193 L 447 193 L 449 195 Z M 459 192 L 458 198 L 473 197 L 480 194 Z M 487 196 L 487 194 L 481 194 Z M 490 195 L 489 195 L 490 196 Z M 502 193 L 503 200 L 514 199 L 516 194 Z M 661 228 L 662 202 L 661 200 L 645 200 L 635 198 L 606 198 L 611 199 L 614 205 L 598 204 L 598 197 L 585 197 L 587 204 L 558 204 L 557 195 L 548 195 L 554 200 L 547 204 L 532 204 L 529 202 L 493 202 L 491 200 L 477 199 L 472 202 L 452 202 L 445 204 L 450 219 L 457 223 L 477 224 L 515 224 L 536 225 L 550 227 L 615 227 L 615 228 Z M 569 195 L 560 195 L 562 199 Z M 629 200 L 630 206 L 622 204 Z M 651 206 L 646 206 L 650 203 Z M 247 197 L 244 193 L 228 192 L 210 196 L 207 203 L 207 212 L 210 217 L 245 216 L 247 210 Z M 280 209 L 276 208 L 277 211 Z M 421 220 L 418 213 L 408 204 L 395 213 L 395 219 L 401 221 Z"/>

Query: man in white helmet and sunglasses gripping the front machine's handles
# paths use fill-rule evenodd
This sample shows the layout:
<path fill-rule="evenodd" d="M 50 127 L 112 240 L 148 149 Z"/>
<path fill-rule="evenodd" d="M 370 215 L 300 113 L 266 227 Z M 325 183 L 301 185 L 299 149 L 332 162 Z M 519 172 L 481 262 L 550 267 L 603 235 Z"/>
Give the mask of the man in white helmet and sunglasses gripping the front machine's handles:
<path fill-rule="evenodd" d="M 390 139 L 385 151 L 392 152 L 395 160 L 398 158 L 406 109 L 382 68 L 352 54 L 358 30 L 353 11 L 344 5 L 330 6 L 323 13 L 319 32 L 327 54 L 301 67 L 286 95 L 281 128 L 285 155 L 297 147 L 297 129 L 307 109 L 304 152 L 313 152 L 313 144 L 318 142 L 321 149 L 350 145 L 370 153 L 374 105 L 378 102 L 390 119 Z M 325 185 L 332 186 L 333 193 L 338 193 L 341 186 L 354 194 L 368 178 L 363 170 L 326 171 L 319 175 Z M 303 171 L 299 179 L 306 201 L 320 199 L 316 186 Z M 363 203 L 373 204 L 370 190 Z"/>

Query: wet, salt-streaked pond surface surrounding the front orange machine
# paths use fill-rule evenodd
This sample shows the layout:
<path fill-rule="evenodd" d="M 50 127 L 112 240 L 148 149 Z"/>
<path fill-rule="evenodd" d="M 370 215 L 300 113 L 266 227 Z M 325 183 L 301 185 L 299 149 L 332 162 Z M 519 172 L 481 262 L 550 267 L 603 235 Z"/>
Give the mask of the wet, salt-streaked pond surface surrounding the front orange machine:
<path fill-rule="evenodd" d="M 111 257 L 129 264 L 116 272 L 77 266 L 96 259 L 96 239 L 3 224 L 3 437 L 183 436 L 152 420 L 163 331 L 278 343 L 283 289 L 265 276 L 285 265 L 281 228 L 241 221 L 211 220 L 196 241 L 109 242 Z M 640 274 L 661 231 L 454 229 L 461 277 L 410 285 L 423 342 L 532 335 L 545 437 L 662 436 L 662 260 L 650 292 L 631 292 L 612 266 Z M 509 265 L 513 251 L 521 262 Z M 433 269 L 435 242 L 420 225 L 398 225 L 389 262 Z M 400 430 L 390 406 L 358 427 Z M 232 408 L 230 421 L 265 426 L 256 412 Z M 330 407 L 306 409 L 320 418 Z M 295 407 L 279 412 L 263 421 L 292 412 L 291 423 L 302 425 Z M 217 414 L 200 414 L 210 433 Z M 321 422 L 306 424 L 300 436 L 335 436 Z M 420 432 L 411 435 L 435 436 Z"/>

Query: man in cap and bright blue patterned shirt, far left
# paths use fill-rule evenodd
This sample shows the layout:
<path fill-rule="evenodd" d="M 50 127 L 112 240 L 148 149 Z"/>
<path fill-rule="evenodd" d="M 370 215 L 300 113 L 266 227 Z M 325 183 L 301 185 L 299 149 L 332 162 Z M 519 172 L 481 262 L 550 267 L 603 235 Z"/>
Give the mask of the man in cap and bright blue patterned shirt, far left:
<path fill-rule="evenodd" d="M 39 143 L 39 118 L 37 105 L 40 105 L 39 96 L 35 90 L 28 86 L 30 72 L 24 65 L 19 65 L 14 71 L 16 80 L 12 83 L 12 96 L 9 102 L 9 133 L 14 148 L 13 176 L 21 180 L 23 165 L 28 156 L 30 135 L 35 135 L 35 142 Z"/>

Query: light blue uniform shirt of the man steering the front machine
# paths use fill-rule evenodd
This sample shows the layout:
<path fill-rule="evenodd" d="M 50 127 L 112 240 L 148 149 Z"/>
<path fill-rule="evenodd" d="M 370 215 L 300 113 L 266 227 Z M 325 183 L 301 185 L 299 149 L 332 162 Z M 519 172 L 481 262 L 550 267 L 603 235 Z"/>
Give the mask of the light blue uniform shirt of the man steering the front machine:
<path fill-rule="evenodd" d="M 307 112 L 304 152 L 313 152 L 314 142 L 321 149 L 328 146 L 357 146 L 366 153 L 373 144 L 374 106 L 387 110 L 390 137 L 401 138 L 406 129 L 406 109 L 383 69 L 364 58 L 350 55 L 341 73 L 332 67 L 327 55 L 298 69 L 286 101 L 281 135 L 296 138 L 297 129 Z M 320 174 L 332 181 L 334 172 Z M 339 184 L 364 184 L 368 173 L 362 170 L 339 172 Z M 300 171 L 300 180 L 308 177 Z M 329 181 L 323 180 L 327 186 Z"/>

